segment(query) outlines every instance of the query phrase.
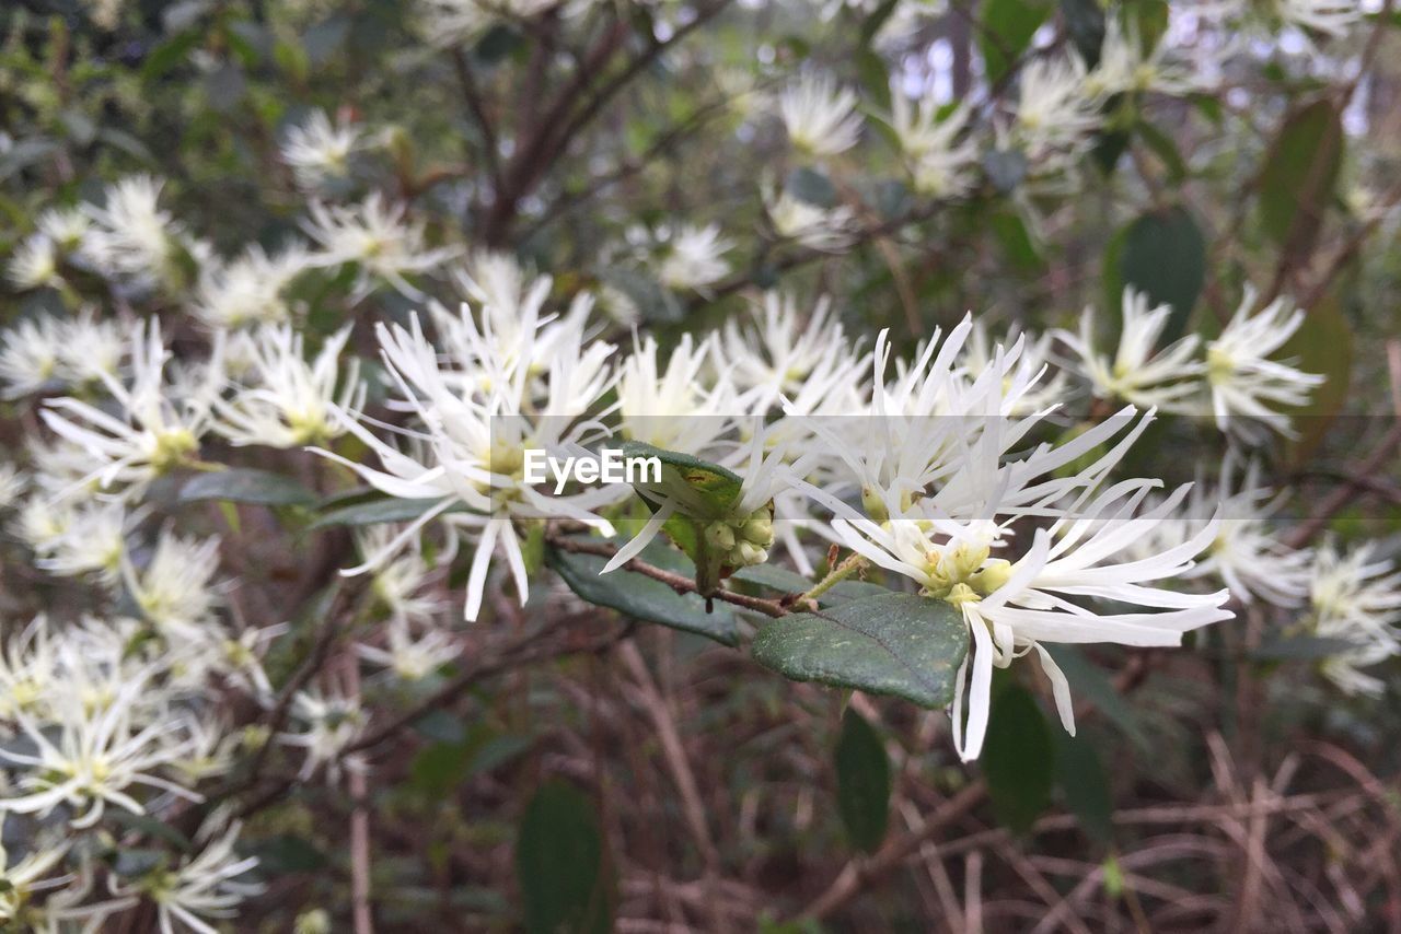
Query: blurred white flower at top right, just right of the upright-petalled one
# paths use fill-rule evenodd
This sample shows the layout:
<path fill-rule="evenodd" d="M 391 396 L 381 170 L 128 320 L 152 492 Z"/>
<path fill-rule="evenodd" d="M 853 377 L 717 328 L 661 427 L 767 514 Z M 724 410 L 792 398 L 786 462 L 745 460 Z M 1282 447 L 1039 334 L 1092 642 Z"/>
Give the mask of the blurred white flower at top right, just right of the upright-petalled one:
<path fill-rule="evenodd" d="M 1100 129 L 1100 98 L 1084 87 L 1084 63 L 1075 53 L 1033 59 L 1021 70 L 1013 137 L 1033 167 L 1055 155 L 1079 154 Z"/>

